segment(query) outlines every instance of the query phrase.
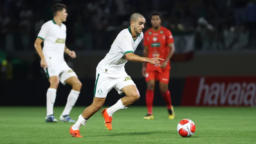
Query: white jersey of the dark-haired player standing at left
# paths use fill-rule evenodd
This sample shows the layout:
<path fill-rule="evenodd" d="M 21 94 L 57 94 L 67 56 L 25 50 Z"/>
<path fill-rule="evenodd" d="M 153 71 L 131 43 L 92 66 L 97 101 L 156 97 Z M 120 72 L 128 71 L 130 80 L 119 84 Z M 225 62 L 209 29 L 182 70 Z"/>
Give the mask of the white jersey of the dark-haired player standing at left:
<path fill-rule="evenodd" d="M 53 19 L 42 25 L 37 37 L 44 40 L 43 55 L 46 62 L 49 59 L 56 63 L 65 61 L 66 30 L 66 25 L 61 23 L 59 26 Z"/>

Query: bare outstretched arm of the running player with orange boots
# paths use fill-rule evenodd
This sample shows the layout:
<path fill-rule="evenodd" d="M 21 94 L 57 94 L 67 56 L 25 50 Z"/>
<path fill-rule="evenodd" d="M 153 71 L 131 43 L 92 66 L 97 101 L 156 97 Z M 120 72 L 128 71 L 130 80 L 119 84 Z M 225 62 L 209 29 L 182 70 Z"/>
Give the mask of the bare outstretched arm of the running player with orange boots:
<path fill-rule="evenodd" d="M 161 58 L 146 58 L 146 57 L 140 57 L 138 55 L 135 55 L 133 53 L 127 53 L 125 54 L 125 57 L 128 61 L 135 61 L 135 62 L 142 62 L 142 63 L 150 63 L 153 65 L 160 66 L 160 61 L 164 60 Z"/>

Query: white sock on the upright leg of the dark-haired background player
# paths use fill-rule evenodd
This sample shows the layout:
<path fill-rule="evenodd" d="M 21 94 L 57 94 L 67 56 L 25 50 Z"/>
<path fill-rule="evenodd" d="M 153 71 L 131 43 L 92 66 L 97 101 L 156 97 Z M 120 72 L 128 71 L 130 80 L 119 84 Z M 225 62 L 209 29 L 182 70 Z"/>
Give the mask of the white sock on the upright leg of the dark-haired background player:
<path fill-rule="evenodd" d="M 54 88 L 48 88 L 46 93 L 46 108 L 47 108 L 47 116 L 53 115 L 53 105 L 56 99 L 57 90 Z"/>

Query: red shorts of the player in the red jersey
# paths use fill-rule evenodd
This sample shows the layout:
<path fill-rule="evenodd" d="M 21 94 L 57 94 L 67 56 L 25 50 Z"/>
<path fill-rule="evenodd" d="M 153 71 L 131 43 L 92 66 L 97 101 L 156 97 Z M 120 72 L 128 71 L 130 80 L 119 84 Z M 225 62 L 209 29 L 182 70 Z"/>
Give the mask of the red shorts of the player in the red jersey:
<path fill-rule="evenodd" d="M 159 80 L 161 83 L 169 83 L 170 69 L 146 70 L 146 81 Z"/>

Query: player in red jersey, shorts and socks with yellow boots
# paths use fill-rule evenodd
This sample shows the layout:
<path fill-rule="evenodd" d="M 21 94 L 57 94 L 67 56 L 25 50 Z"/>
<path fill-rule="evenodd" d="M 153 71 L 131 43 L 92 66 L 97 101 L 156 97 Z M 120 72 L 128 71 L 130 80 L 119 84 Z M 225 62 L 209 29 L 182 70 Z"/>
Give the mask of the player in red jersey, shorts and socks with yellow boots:
<path fill-rule="evenodd" d="M 174 53 L 174 41 L 170 30 L 161 26 L 161 13 L 151 14 L 152 28 L 144 34 L 144 57 L 162 58 L 161 66 L 143 63 L 142 75 L 146 78 L 147 93 L 146 104 L 148 114 L 144 119 L 154 119 L 152 108 L 154 99 L 155 81 L 159 80 L 159 88 L 167 105 L 169 119 L 174 119 L 174 110 L 171 104 L 171 94 L 168 90 L 170 77 L 170 58 Z"/>

